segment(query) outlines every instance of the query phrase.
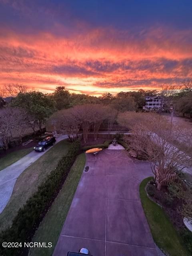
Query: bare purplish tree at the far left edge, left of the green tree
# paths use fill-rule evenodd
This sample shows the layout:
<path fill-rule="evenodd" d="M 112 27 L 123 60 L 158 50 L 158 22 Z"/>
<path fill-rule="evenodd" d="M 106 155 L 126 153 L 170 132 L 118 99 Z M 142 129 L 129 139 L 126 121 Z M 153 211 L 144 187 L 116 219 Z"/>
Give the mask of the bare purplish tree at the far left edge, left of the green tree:
<path fill-rule="evenodd" d="M 22 142 L 27 127 L 28 118 L 25 110 L 11 107 L 0 110 L 0 139 L 4 150 L 7 150 L 9 142 L 16 138 Z"/>

